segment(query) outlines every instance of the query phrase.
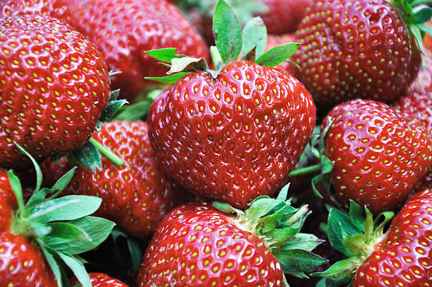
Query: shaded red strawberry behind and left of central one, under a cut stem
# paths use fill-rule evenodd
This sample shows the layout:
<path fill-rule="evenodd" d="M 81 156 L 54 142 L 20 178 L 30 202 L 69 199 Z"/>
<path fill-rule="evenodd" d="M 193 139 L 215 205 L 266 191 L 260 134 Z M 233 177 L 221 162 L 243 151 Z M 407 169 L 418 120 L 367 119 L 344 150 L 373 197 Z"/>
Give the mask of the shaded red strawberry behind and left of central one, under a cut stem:
<path fill-rule="evenodd" d="M 107 146 L 126 165 L 116 167 L 102 157 L 102 170 L 95 173 L 78 166 L 63 194 L 100 197 L 102 205 L 97 216 L 114 221 L 138 238 L 152 235 L 157 224 L 181 202 L 184 194 L 179 193 L 179 189 L 157 169 L 147 124 L 109 122 L 93 135 L 93 139 Z M 70 168 L 69 165 L 60 168 L 49 162 L 42 165 L 44 177 L 54 175 L 54 181 Z"/>

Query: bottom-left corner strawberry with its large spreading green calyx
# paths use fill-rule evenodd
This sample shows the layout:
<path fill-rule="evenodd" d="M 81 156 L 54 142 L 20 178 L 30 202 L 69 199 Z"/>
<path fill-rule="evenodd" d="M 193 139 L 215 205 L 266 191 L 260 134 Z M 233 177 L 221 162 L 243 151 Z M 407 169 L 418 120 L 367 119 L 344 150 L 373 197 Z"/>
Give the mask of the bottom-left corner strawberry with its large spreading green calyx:
<path fill-rule="evenodd" d="M 114 223 L 88 216 L 101 204 L 96 197 L 55 198 L 68 185 L 73 170 L 51 189 L 40 189 L 41 172 L 36 161 L 32 159 L 32 162 L 37 169 L 37 187 L 27 204 L 18 177 L 10 171 L 4 180 L 4 171 L 0 172 L 2 192 L 16 197 L 17 203 L 10 204 L 5 196 L 0 196 L 0 286 L 61 287 L 62 280 L 67 278 L 60 266 L 66 264 L 83 286 L 90 287 L 90 279 L 77 254 L 100 245 Z M 45 199 L 48 193 L 54 194 Z"/>

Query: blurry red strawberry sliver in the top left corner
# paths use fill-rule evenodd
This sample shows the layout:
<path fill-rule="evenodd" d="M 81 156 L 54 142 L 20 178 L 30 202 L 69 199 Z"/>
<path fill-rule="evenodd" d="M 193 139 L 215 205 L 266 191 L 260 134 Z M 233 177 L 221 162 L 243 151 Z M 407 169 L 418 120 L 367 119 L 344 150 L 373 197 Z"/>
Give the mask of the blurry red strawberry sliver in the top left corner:
<path fill-rule="evenodd" d="M 68 0 L 3 0 L 0 1 L 0 13 L 4 17 L 12 15 L 43 14 L 66 22 L 71 20 Z"/>

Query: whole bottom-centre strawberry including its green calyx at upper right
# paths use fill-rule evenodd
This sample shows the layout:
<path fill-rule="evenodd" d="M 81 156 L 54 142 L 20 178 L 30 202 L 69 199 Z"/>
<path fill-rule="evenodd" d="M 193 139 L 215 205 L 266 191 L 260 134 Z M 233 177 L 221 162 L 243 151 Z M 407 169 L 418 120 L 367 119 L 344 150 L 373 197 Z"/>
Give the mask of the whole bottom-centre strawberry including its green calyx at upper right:
<path fill-rule="evenodd" d="M 294 209 L 286 196 L 287 188 L 277 199 L 258 197 L 246 211 L 220 203 L 174 209 L 145 252 L 137 286 L 284 286 L 284 272 L 304 276 L 326 260 L 311 253 L 321 240 L 298 233 L 307 207 Z"/>

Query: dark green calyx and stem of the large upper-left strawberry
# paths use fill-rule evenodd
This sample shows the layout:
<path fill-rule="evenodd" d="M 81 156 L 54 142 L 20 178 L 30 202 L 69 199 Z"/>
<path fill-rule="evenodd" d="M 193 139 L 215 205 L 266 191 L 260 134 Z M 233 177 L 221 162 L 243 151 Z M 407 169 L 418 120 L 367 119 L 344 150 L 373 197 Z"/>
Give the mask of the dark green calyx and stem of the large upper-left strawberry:
<path fill-rule="evenodd" d="M 111 92 L 107 107 L 105 107 L 97 120 L 95 131 L 100 131 L 104 122 L 111 119 L 114 114 L 116 114 L 116 112 L 127 103 L 126 100 L 117 100 L 118 95 L 119 90 L 113 90 Z M 67 156 L 68 162 L 72 165 L 82 165 L 84 168 L 95 172 L 96 170 L 102 170 L 101 155 L 108 158 L 108 160 L 116 166 L 124 164 L 123 160 L 119 158 L 119 156 L 116 156 L 112 151 L 109 151 L 108 148 L 102 146 L 102 144 L 92 138 L 90 138 L 90 140 L 83 146 L 80 146 L 73 151 L 53 156 L 52 160 L 58 162 L 60 158 Z"/>

